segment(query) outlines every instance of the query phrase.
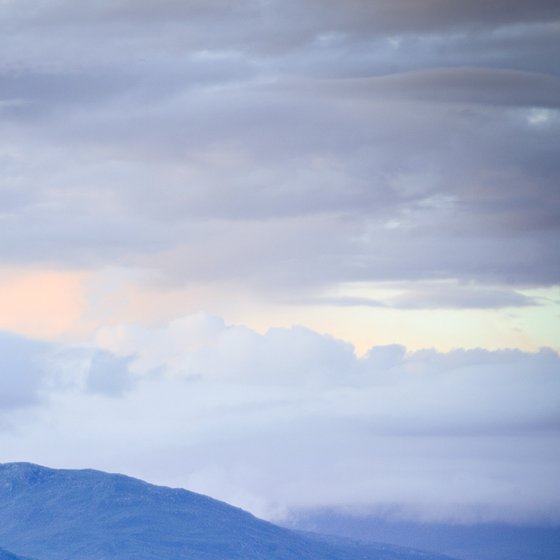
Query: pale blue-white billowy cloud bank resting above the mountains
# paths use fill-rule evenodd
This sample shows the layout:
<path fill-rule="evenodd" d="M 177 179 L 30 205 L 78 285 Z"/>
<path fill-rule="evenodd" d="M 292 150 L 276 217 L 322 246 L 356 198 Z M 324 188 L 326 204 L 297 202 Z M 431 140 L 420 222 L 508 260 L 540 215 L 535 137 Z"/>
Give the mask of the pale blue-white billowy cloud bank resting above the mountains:
<path fill-rule="evenodd" d="M 11 338 L 3 356 L 21 355 L 21 344 Z M 37 462 L 124 471 L 267 516 L 347 506 L 462 522 L 560 519 L 552 351 L 394 345 L 357 358 L 304 328 L 260 335 L 204 314 L 107 327 L 99 347 L 51 349 L 48 360 L 26 344 L 36 365 L 19 372 L 38 368 L 43 400 L 25 415 L 2 402 L 17 423 L 0 430 L 2 460 L 24 450 Z"/>

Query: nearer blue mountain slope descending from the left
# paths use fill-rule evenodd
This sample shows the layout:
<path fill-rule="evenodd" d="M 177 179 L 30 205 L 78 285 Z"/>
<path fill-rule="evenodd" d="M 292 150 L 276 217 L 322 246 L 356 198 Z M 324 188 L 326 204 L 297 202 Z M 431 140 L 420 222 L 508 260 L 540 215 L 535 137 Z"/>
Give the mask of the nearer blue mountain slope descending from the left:
<path fill-rule="evenodd" d="M 187 490 L 94 470 L 0 465 L 0 504 L 0 546 L 37 560 L 448 558 L 299 533 Z"/>

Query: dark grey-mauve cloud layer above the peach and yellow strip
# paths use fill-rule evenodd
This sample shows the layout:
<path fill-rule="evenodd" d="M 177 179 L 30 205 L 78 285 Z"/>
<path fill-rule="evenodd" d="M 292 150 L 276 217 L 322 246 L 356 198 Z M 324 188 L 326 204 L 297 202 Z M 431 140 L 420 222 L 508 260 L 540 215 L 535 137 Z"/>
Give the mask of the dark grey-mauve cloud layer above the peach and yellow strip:
<path fill-rule="evenodd" d="M 2 258 L 296 297 L 557 284 L 559 11 L 4 3 Z"/>

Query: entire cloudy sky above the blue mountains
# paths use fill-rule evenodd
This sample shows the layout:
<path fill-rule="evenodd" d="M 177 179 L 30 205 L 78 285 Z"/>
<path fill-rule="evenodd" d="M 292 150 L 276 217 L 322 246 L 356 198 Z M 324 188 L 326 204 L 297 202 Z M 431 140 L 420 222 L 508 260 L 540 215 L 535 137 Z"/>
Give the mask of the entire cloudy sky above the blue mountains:
<path fill-rule="evenodd" d="M 0 461 L 560 523 L 560 4 L 0 0 Z"/>

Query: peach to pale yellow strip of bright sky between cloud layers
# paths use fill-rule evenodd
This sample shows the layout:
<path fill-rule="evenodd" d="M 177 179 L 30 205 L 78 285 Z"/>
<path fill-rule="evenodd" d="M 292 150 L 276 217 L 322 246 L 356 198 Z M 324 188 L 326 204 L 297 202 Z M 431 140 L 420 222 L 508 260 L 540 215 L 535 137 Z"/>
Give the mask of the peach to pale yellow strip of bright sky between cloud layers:
<path fill-rule="evenodd" d="M 372 296 L 381 295 L 372 293 Z M 0 269 L 0 329 L 61 342 L 90 341 L 102 326 L 161 325 L 205 311 L 264 333 L 301 325 L 354 345 L 411 350 L 541 347 L 560 350 L 558 289 L 535 290 L 539 306 L 502 310 L 402 310 L 265 301 L 231 285 L 162 289 L 125 270 Z"/>

